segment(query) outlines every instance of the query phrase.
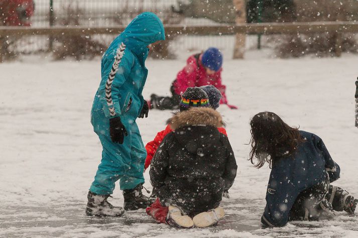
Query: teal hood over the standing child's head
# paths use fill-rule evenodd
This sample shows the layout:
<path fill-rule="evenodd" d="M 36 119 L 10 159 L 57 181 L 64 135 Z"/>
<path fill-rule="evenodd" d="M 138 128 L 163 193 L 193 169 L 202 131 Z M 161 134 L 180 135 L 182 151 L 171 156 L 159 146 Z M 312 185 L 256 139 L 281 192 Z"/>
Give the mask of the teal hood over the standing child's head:
<path fill-rule="evenodd" d="M 121 36 L 124 37 L 124 44 L 140 58 L 148 54 L 149 44 L 165 40 L 162 21 L 149 12 L 135 17 Z"/>

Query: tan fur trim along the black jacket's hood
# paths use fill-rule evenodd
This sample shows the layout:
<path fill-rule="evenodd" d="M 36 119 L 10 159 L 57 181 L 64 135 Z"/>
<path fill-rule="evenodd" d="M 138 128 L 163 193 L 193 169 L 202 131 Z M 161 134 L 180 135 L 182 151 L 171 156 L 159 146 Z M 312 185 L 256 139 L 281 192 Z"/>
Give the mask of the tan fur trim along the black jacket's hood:
<path fill-rule="evenodd" d="M 184 126 L 222 127 L 225 125 L 220 113 L 206 107 L 192 107 L 189 110 L 175 113 L 172 118 L 168 119 L 167 124 L 170 124 L 173 130 Z"/>

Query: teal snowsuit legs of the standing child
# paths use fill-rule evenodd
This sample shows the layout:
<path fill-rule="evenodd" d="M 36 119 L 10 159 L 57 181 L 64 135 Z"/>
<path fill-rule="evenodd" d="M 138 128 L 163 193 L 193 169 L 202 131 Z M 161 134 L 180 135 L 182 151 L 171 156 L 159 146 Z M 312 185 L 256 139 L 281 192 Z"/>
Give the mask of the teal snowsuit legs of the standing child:
<path fill-rule="evenodd" d="M 103 114 L 103 115 L 101 115 Z M 147 151 L 144 147 L 137 123 L 121 116 L 128 136 L 123 144 L 113 143 L 109 136 L 109 120 L 101 110 L 92 110 L 92 124 L 103 150 L 90 191 L 96 194 L 112 194 L 115 182 L 120 180 L 121 190 L 135 188 L 144 183 L 143 170 Z M 131 123 L 131 121 L 133 123 Z"/>

